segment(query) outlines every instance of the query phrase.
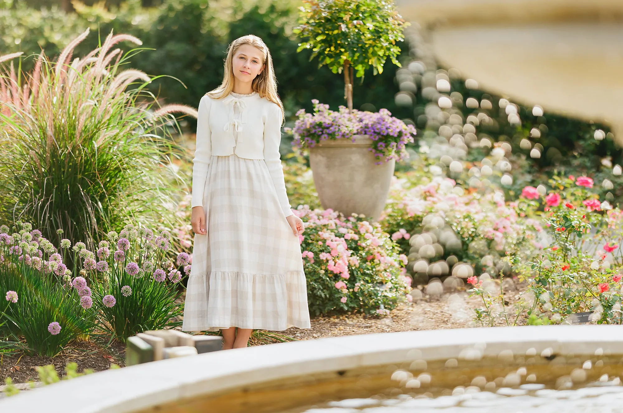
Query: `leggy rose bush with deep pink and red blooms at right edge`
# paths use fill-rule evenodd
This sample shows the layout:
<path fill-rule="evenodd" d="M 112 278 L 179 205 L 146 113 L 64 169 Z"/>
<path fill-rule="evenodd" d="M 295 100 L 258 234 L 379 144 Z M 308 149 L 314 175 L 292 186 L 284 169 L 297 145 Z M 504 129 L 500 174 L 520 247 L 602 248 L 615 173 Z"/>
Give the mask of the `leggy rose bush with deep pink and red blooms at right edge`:
<path fill-rule="evenodd" d="M 554 189 L 543 197 L 543 211 L 535 211 L 549 245 L 523 273 L 529 285 L 526 319 L 562 323 L 573 313 L 592 311 L 597 323 L 623 323 L 623 211 L 600 201 L 586 176 L 555 176 L 549 186 Z"/>

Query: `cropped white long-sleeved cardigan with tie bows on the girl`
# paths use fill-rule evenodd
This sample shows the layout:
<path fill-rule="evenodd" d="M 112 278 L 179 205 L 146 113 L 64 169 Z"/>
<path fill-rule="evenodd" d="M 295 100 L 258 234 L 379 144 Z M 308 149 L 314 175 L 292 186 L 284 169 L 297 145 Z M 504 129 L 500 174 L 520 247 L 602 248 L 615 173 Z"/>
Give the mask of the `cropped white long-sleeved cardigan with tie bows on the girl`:
<path fill-rule="evenodd" d="M 240 108 L 235 119 L 234 105 Z M 231 93 L 222 99 L 204 95 L 197 115 L 197 141 L 193 159 L 193 198 L 191 207 L 203 205 L 207 167 L 211 155 L 264 159 L 272 178 L 279 204 L 285 216 L 293 215 L 283 180 L 279 154 L 281 142 L 281 108 L 257 92 L 251 95 Z M 234 141 L 237 131 L 237 145 Z"/>

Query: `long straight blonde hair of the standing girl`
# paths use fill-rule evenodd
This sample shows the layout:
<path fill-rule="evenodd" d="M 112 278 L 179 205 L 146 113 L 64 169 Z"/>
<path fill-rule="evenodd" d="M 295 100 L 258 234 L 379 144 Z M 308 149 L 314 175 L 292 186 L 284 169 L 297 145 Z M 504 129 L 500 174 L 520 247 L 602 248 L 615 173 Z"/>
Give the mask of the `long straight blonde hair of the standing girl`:
<path fill-rule="evenodd" d="M 252 45 L 253 47 L 259 49 L 262 52 L 264 59 L 263 63 L 265 64 L 264 70 L 262 70 L 262 72 L 260 72 L 251 83 L 251 88 L 254 92 L 257 92 L 260 97 L 267 98 L 270 102 L 277 103 L 278 107 L 281 108 L 283 121 L 285 118 L 285 112 L 283 110 L 283 103 L 281 102 L 279 95 L 277 95 L 277 78 L 275 77 L 275 69 L 273 68 L 270 50 L 264 43 L 264 40 L 253 34 L 238 37 L 229 44 L 227 47 L 227 57 L 225 59 L 223 82 L 221 83 L 221 86 L 207 92 L 206 95 L 214 99 L 222 99 L 229 95 L 229 93 L 234 89 L 234 67 L 232 61 L 236 50 L 244 44 Z"/>

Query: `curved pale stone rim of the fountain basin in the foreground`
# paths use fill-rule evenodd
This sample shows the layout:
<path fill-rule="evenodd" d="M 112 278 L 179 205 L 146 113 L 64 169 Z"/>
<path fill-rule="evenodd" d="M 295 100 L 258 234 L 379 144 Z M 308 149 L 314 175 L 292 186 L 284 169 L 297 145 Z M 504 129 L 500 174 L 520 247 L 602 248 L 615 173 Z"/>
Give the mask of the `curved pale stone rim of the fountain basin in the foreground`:
<path fill-rule="evenodd" d="M 482 344 L 485 344 L 483 346 Z M 623 329 L 614 325 L 462 328 L 341 336 L 166 359 L 102 371 L 0 400 L 1 411 L 135 412 L 180 399 L 234 391 L 277 379 L 356 368 L 462 358 L 480 348 L 483 357 L 503 350 L 556 355 L 623 355 Z M 50 403 L 50 401 L 62 401 Z M 17 410 L 16 410 L 17 411 Z"/>

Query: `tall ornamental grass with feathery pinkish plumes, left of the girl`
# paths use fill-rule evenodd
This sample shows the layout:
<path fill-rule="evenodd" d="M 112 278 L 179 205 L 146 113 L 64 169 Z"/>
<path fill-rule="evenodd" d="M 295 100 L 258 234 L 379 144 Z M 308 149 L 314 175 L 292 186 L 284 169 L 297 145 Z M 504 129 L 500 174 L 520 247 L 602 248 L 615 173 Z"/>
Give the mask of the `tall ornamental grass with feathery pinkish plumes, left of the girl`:
<path fill-rule="evenodd" d="M 0 219 L 39 222 L 54 241 L 54 230 L 64 229 L 92 248 L 128 219 L 174 219 L 168 207 L 179 178 L 168 165 L 183 151 L 163 126 L 170 113 L 196 110 L 154 107 L 145 87 L 156 77 L 123 67 L 140 49 L 113 49 L 141 45 L 136 37 L 110 32 L 101 47 L 72 59 L 88 32 L 54 61 L 36 55 L 29 73 L 21 62 L 14 69 L 21 52 L 0 55 L 0 65 L 11 60 L 10 69 L 0 67 Z"/>

